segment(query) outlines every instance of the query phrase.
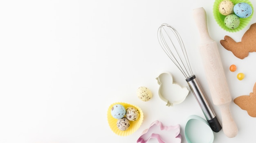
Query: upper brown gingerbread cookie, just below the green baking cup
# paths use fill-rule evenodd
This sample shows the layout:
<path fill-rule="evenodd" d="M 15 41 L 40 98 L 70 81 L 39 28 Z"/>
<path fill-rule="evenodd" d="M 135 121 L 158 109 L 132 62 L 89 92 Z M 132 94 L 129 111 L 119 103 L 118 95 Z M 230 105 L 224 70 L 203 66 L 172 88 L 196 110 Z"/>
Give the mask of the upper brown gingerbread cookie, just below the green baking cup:
<path fill-rule="evenodd" d="M 243 59 L 249 55 L 249 52 L 256 52 L 256 23 L 252 24 L 245 32 L 240 42 L 234 41 L 229 36 L 220 40 L 220 44 L 231 51 L 236 57 Z"/>

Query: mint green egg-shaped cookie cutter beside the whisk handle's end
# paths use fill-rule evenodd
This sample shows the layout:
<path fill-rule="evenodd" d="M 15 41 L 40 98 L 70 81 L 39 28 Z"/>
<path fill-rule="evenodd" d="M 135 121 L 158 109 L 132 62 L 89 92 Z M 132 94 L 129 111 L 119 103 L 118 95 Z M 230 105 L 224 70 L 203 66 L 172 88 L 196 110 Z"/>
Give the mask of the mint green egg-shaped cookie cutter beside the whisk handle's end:
<path fill-rule="evenodd" d="M 184 130 L 188 143 L 213 143 L 214 135 L 209 123 L 197 115 L 189 116 Z"/>

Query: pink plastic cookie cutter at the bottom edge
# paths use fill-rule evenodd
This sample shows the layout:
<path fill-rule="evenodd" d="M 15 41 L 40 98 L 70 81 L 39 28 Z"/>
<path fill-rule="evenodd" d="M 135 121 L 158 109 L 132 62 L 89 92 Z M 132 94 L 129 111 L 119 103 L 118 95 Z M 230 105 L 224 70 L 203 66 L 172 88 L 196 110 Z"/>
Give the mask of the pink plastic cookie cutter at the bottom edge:
<path fill-rule="evenodd" d="M 163 126 L 156 120 L 142 132 L 137 143 L 147 143 L 150 139 L 157 139 L 158 143 L 181 143 L 180 125 Z"/>

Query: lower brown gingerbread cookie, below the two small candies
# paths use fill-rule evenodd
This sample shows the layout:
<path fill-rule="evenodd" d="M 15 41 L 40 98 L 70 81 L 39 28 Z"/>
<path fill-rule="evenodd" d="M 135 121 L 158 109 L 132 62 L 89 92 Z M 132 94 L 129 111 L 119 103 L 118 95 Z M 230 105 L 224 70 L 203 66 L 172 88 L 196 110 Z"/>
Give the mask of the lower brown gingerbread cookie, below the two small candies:
<path fill-rule="evenodd" d="M 234 99 L 234 102 L 241 109 L 246 110 L 249 116 L 256 117 L 256 83 L 254 84 L 252 93 L 239 96 Z"/>

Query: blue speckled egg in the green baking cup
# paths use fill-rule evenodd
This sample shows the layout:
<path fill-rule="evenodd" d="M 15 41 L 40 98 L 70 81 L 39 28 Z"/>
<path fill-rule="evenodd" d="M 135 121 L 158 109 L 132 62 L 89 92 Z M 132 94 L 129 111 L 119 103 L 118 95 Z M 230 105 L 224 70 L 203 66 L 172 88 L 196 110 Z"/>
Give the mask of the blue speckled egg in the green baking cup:
<path fill-rule="evenodd" d="M 252 15 L 252 7 L 246 2 L 235 4 L 234 13 L 240 18 L 247 18 Z"/>

